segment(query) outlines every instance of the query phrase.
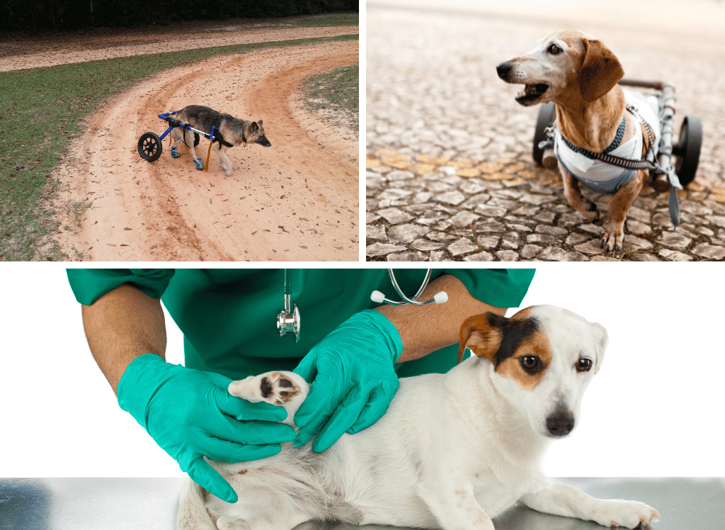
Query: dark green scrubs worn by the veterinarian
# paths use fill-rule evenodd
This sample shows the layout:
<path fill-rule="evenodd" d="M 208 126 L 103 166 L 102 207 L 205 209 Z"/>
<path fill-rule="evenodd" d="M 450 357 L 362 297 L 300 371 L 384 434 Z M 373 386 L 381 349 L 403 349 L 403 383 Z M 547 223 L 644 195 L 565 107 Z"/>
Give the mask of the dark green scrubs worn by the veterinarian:
<path fill-rule="evenodd" d="M 399 300 L 386 269 L 289 269 L 291 298 L 300 312 L 299 342 L 279 336 L 284 306 L 283 269 L 68 269 L 79 303 L 129 283 L 161 298 L 184 336 L 185 366 L 232 379 L 269 370 L 294 370 L 302 356 L 352 314 L 373 309 L 373 290 Z M 403 293 L 414 295 L 426 269 L 394 271 Z M 475 298 L 495 307 L 518 307 L 534 269 L 434 269 L 457 277 Z M 450 302 L 449 302 L 450 303 Z M 457 345 L 399 363 L 399 377 L 447 372 Z"/>

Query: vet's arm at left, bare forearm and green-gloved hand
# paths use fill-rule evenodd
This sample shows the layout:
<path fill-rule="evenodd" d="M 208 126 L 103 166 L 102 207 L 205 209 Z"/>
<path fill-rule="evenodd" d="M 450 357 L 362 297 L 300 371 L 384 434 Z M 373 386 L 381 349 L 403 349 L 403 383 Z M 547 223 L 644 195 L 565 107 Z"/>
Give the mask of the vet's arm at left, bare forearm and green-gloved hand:
<path fill-rule="evenodd" d="M 294 431 L 280 407 L 231 396 L 231 379 L 164 361 L 158 299 L 120 285 L 82 306 L 88 345 L 119 406 L 146 429 L 197 484 L 228 502 L 236 493 L 204 457 L 225 462 L 276 454 Z"/>

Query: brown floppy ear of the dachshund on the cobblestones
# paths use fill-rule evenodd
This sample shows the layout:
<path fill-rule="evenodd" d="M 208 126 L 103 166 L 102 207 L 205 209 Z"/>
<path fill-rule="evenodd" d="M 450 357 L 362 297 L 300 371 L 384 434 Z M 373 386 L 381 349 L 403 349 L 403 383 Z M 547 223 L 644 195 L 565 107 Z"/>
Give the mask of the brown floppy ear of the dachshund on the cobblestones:
<path fill-rule="evenodd" d="M 591 103 L 599 99 L 624 76 L 624 69 L 612 51 L 601 41 L 582 39 L 584 61 L 579 70 L 581 99 Z"/>

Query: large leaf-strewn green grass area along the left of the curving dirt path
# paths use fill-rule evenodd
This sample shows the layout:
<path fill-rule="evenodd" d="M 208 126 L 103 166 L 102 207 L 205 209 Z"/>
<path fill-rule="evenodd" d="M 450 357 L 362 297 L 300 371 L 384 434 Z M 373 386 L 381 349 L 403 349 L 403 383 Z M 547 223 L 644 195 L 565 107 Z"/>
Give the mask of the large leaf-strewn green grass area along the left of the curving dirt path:
<path fill-rule="evenodd" d="M 219 54 L 357 38 L 218 46 L 0 73 L 0 261 L 64 259 L 55 245 L 38 250 L 59 229 L 48 208 L 59 186 L 51 171 L 83 118 L 104 99 L 160 70 Z"/>

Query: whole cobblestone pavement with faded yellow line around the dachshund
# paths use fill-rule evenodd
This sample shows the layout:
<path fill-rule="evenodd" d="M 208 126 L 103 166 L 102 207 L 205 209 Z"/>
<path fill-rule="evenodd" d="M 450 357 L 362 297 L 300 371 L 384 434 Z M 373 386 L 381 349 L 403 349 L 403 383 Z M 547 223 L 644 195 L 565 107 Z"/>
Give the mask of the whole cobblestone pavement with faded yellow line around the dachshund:
<path fill-rule="evenodd" d="M 368 4 L 368 260 L 725 259 L 725 55 L 718 38 L 707 25 L 692 23 L 675 35 L 652 25 L 634 30 L 634 15 L 626 22 L 589 18 Z M 615 254 L 600 248 L 601 221 L 585 221 L 566 203 L 558 173 L 534 164 L 537 108 L 518 105 L 521 87 L 495 73 L 499 62 L 561 28 L 601 38 L 630 78 L 673 81 L 676 129 L 684 115 L 703 118 L 700 166 L 680 195 L 682 223 L 672 227 L 667 195 L 647 187 L 629 211 L 624 250 Z M 606 212 L 608 196 L 587 196 Z"/>

